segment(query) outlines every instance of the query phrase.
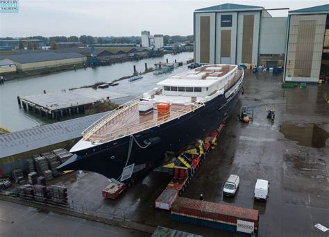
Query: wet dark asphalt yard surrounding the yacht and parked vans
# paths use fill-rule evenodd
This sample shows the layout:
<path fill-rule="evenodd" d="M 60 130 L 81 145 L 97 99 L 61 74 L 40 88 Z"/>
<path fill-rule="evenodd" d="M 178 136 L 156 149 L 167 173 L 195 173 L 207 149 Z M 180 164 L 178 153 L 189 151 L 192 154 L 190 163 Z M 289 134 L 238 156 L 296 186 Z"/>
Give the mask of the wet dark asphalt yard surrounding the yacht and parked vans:
<path fill-rule="evenodd" d="M 329 84 L 306 89 L 281 88 L 282 74 L 245 72 L 241 95 L 217 147 L 194 175 L 183 197 L 242 206 L 260 211 L 259 236 L 328 236 L 314 224 L 329 228 Z M 251 107 L 253 120 L 238 120 L 241 106 Z M 267 119 L 274 108 L 276 119 Z M 193 129 L 193 128 L 191 128 Z M 240 177 L 235 197 L 223 197 L 230 174 Z M 92 172 L 73 172 L 51 183 L 65 184 L 69 199 L 90 215 L 188 231 L 203 236 L 242 236 L 231 232 L 173 222 L 168 211 L 155 209 L 155 199 L 171 176 L 151 172 L 118 199 L 104 199 L 108 179 Z M 253 199 L 256 179 L 269 180 L 267 202 Z M 147 236 L 147 235 L 146 235 Z"/>

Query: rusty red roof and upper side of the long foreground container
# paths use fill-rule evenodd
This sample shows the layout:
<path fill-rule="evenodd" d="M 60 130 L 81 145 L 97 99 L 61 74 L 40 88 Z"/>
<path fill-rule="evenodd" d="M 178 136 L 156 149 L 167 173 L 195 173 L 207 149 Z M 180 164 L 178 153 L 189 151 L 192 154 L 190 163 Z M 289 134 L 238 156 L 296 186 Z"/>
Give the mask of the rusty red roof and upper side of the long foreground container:
<path fill-rule="evenodd" d="M 194 220 L 206 220 L 218 224 L 229 224 L 234 228 L 237 227 L 237 220 L 253 222 L 254 231 L 258 230 L 259 213 L 257 210 L 214 202 L 178 197 L 174 205 L 171 206 L 171 215 L 180 215 L 194 218 Z"/>

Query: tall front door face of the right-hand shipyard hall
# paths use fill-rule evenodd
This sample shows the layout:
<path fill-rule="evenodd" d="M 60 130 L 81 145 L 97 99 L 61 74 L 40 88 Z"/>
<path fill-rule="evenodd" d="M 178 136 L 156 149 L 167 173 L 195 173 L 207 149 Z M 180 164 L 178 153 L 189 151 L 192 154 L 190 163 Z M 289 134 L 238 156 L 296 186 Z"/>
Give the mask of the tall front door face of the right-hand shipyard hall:
<path fill-rule="evenodd" d="M 318 82 L 326 15 L 290 16 L 285 81 Z"/>

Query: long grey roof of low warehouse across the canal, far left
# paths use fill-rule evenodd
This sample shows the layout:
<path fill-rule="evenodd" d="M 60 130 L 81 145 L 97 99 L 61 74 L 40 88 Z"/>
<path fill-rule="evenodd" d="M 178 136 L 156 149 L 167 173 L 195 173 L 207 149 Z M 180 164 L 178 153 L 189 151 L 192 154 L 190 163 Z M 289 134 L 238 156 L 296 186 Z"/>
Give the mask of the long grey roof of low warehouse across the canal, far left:
<path fill-rule="evenodd" d="M 85 57 L 82 54 L 78 54 L 75 52 L 56 54 L 54 52 L 47 53 L 36 53 L 36 54 L 17 54 L 17 55 L 3 55 L 0 56 L 0 60 L 4 58 L 8 58 L 17 63 L 36 63 L 43 61 L 51 61 L 51 60 L 61 60 L 68 58 L 82 58 Z"/>

